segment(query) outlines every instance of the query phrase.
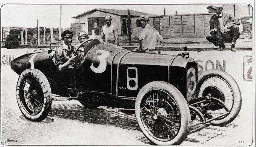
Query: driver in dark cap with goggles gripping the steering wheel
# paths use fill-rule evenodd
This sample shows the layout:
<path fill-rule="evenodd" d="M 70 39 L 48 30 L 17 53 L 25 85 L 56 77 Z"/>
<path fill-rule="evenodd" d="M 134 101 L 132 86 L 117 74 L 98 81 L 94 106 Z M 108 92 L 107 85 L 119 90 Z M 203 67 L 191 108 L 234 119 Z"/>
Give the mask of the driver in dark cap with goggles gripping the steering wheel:
<path fill-rule="evenodd" d="M 55 52 L 55 63 L 58 71 L 64 71 L 69 66 L 74 67 L 77 55 L 74 55 L 75 47 L 71 45 L 74 34 L 65 30 L 60 35 L 64 43 L 58 46 Z"/>

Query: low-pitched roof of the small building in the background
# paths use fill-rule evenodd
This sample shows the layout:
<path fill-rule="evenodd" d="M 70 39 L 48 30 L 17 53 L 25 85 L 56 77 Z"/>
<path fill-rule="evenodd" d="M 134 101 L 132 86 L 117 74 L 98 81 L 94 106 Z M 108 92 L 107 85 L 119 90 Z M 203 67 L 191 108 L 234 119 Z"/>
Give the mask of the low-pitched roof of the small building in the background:
<path fill-rule="evenodd" d="M 110 13 L 113 15 L 118 15 L 118 16 L 127 16 L 128 12 L 127 10 L 117 10 L 117 9 L 93 9 L 93 10 L 89 10 L 83 13 L 80 13 L 78 15 L 75 15 L 74 17 L 71 18 L 77 18 L 80 17 L 81 15 L 86 15 L 87 13 L 93 12 L 93 11 L 100 11 L 100 12 L 104 12 L 104 13 Z M 161 15 L 156 15 L 156 14 L 151 14 L 151 13 L 144 13 L 144 12 L 138 12 L 138 11 L 134 11 L 134 10 L 130 10 L 130 16 L 140 16 L 140 15 L 146 15 L 149 18 L 153 18 L 153 17 L 163 17 Z"/>

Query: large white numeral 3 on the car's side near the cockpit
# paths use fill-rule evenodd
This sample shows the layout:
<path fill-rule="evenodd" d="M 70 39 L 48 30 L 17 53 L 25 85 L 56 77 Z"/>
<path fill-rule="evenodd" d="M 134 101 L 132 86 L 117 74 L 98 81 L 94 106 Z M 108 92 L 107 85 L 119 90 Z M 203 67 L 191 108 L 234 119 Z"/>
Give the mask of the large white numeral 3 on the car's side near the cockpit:
<path fill-rule="evenodd" d="M 99 60 L 99 66 L 97 68 L 95 68 L 92 65 L 90 66 L 90 69 L 92 69 L 93 72 L 100 74 L 102 72 L 104 72 L 107 68 L 107 61 L 106 58 L 109 56 L 109 52 L 108 51 L 104 51 L 104 50 L 98 50 L 96 51 L 96 54 L 101 53 L 98 55 L 97 59 Z"/>

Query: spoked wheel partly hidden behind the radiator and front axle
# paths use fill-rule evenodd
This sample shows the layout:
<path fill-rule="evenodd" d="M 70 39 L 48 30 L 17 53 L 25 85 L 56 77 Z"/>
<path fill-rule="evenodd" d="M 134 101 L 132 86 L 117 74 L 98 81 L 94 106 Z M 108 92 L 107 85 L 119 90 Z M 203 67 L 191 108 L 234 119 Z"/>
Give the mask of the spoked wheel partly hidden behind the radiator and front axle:
<path fill-rule="evenodd" d="M 225 125 L 233 121 L 241 109 L 241 93 L 235 80 L 226 72 L 220 70 L 209 70 L 203 72 L 198 78 L 199 96 L 211 95 L 224 102 L 227 110 L 219 102 L 213 102 L 209 105 L 203 115 L 207 118 L 220 116 L 217 120 L 211 121 L 211 124 Z"/>

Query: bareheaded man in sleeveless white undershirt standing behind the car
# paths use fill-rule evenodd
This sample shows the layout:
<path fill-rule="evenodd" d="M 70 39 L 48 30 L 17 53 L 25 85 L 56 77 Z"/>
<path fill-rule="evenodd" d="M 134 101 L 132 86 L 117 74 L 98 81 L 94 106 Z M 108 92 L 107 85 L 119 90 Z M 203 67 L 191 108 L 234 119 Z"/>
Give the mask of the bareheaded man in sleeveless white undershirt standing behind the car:
<path fill-rule="evenodd" d="M 105 36 L 105 42 L 110 42 L 118 45 L 118 30 L 117 27 L 111 23 L 111 21 L 112 18 L 110 15 L 105 16 L 106 24 L 101 27 L 101 38 L 104 39 Z"/>

